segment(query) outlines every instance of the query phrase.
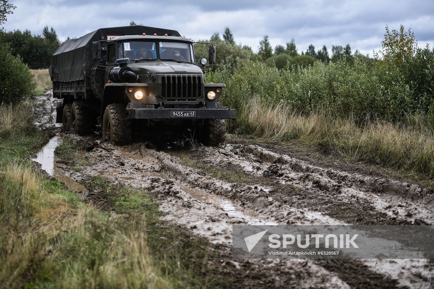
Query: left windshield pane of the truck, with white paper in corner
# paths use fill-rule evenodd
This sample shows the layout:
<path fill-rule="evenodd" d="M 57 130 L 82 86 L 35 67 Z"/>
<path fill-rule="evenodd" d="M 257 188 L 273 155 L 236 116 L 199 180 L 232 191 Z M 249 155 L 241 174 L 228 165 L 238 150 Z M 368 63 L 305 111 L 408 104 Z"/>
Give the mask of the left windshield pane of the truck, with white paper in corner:
<path fill-rule="evenodd" d="M 119 58 L 129 58 L 132 60 L 156 60 L 157 50 L 155 50 L 155 42 L 146 41 L 125 41 L 119 43 L 118 46 Z"/>

